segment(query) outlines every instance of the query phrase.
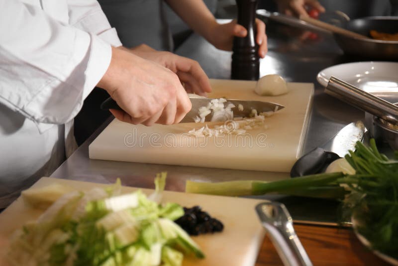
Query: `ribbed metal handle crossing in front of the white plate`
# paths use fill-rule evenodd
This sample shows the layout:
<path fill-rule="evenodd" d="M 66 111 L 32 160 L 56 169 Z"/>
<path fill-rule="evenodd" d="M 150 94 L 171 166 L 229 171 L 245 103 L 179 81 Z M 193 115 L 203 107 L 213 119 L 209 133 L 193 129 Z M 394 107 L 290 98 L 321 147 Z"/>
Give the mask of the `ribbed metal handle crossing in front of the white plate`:
<path fill-rule="evenodd" d="M 398 124 L 398 106 L 336 77 L 330 77 L 325 93 L 392 124 Z"/>

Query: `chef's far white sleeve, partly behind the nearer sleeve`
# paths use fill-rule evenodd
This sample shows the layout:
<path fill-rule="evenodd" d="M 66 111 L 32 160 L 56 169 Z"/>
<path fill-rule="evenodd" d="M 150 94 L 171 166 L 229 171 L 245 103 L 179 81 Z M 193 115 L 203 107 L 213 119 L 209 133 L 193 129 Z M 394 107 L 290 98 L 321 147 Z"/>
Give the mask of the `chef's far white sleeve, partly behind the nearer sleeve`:
<path fill-rule="evenodd" d="M 114 47 L 122 45 L 97 0 L 68 0 L 68 11 L 70 25 L 98 35 Z"/>

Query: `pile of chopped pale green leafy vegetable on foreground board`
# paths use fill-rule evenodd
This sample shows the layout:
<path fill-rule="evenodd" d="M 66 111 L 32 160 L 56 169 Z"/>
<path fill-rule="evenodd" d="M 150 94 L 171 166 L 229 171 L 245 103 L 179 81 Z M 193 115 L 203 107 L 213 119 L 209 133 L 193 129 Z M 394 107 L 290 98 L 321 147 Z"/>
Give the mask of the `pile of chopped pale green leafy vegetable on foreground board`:
<path fill-rule="evenodd" d="M 151 198 L 159 199 L 162 177 Z M 120 183 L 61 196 L 37 221 L 15 232 L 7 254 L 10 265 L 180 266 L 183 254 L 204 258 L 173 222 L 184 215 L 180 205 L 160 205 L 140 190 L 115 195 L 117 187 Z"/>

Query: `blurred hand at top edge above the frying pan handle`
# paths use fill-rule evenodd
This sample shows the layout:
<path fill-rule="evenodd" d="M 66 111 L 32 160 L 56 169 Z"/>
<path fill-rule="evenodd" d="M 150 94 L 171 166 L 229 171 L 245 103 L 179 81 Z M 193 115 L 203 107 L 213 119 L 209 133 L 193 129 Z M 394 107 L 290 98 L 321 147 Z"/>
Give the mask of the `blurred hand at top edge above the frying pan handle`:
<path fill-rule="evenodd" d="M 325 12 L 325 8 L 317 0 L 277 0 L 277 3 L 280 12 L 291 16 L 309 16 L 307 9 L 311 12 Z M 314 17 L 313 14 L 311 16 Z"/>

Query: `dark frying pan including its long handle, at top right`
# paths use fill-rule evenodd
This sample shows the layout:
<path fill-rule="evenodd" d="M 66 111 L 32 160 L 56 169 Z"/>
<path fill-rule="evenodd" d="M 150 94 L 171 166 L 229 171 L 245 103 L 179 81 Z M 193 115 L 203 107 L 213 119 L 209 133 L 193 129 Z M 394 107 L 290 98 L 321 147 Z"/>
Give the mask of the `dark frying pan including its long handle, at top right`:
<path fill-rule="evenodd" d="M 337 11 L 336 11 L 337 12 Z M 278 12 L 269 12 L 265 9 L 257 10 L 257 15 L 269 19 L 296 26 L 302 29 L 325 33 L 324 28 L 308 23 L 296 17 L 287 16 Z M 398 17 L 394 16 L 373 16 L 348 21 L 342 21 L 341 27 L 359 34 L 370 36 L 370 30 L 377 30 L 385 33 L 398 32 Z M 330 31 L 327 31 L 331 33 Z M 340 33 L 332 33 L 334 39 L 345 54 L 367 57 L 370 59 L 398 59 L 398 41 L 383 41 L 375 39 L 360 39 Z"/>

